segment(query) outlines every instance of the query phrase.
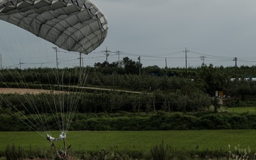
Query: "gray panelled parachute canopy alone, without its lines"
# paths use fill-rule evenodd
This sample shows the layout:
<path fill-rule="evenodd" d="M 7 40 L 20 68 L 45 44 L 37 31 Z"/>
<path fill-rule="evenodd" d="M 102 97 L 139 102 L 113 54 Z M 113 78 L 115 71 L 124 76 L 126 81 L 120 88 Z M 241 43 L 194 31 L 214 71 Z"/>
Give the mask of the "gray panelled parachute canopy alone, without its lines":
<path fill-rule="evenodd" d="M 107 18 L 89 0 L 0 0 L 0 19 L 59 48 L 90 53 L 107 36 Z"/>

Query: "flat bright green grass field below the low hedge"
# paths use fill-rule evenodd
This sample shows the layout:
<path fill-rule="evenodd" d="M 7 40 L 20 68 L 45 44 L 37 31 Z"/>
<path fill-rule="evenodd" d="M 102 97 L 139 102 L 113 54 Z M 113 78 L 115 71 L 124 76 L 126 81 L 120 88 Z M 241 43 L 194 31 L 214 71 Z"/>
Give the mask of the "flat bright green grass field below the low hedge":
<path fill-rule="evenodd" d="M 52 132 L 58 137 L 60 132 Z M 185 151 L 225 150 L 230 146 L 240 146 L 256 152 L 256 130 L 193 130 L 193 131 L 111 131 L 111 132 L 68 132 L 67 146 L 74 151 L 96 151 L 97 149 L 119 149 L 132 151 L 149 151 L 155 144 L 169 144 Z M 16 144 L 23 149 L 50 148 L 46 137 L 36 132 L 0 132 L 0 151 L 7 144 Z M 63 142 L 55 142 L 58 149 Z"/>

